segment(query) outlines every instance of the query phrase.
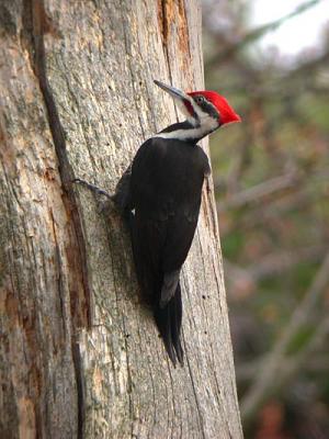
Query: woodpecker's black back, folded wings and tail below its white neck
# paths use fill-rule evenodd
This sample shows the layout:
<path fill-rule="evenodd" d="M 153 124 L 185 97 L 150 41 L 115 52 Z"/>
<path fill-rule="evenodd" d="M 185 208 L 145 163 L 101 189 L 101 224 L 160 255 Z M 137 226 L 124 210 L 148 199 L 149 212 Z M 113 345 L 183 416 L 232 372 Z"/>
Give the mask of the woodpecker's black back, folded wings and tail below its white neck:
<path fill-rule="evenodd" d="M 195 233 L 208 161 L 196 145 L 154 138 L 132 168 L 133 249 L 143 292 L 151 301 L 169 357 L 180 362 L 180 270 Z"/>

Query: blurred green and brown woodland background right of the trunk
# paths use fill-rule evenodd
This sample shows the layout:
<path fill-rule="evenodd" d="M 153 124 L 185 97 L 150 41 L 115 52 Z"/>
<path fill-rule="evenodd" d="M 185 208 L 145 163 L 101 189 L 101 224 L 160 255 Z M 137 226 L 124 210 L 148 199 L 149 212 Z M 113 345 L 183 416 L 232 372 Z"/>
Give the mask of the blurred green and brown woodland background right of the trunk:
<path fill-rule="evenodd" d="M 247 439 L 329 438 L 329 0 L 203 0 L 206 88 Z"/>

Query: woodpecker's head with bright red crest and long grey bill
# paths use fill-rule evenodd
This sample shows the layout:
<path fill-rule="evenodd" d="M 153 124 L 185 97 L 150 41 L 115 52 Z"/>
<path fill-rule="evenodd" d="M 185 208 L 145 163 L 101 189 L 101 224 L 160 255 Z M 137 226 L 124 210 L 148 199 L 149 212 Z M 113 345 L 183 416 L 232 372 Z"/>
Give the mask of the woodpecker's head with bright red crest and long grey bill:
<path fill-rule="evenodd" d="M 215 91 L 183 92 L 174 87 L 155 80 L 155 83 L 167 91 L 177 102 L 188 121 L 203 130 L 204 135 L 219 126 L 240 122 L 241 117 L 234 111 L 227 100 Z"/>

